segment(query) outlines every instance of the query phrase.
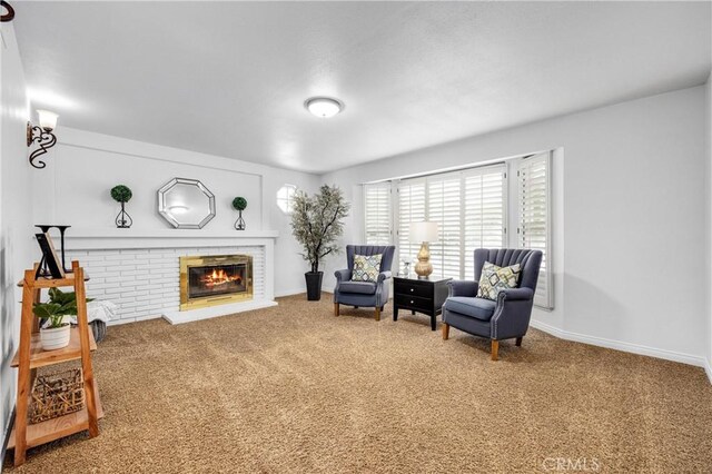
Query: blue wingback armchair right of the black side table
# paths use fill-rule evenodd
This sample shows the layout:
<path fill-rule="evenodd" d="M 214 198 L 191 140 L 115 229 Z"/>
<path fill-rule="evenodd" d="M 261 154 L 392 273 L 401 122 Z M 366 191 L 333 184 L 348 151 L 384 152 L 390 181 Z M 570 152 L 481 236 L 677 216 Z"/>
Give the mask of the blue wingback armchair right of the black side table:
<path fill-rule="evenodd" d="M 492 361 L 497 359 L 500 340 L 522 337 L 530 327 L 534 292 L 542 265 L 540 250 L 478 248 L 475 250 L 475 278 L 479 278 L 485 261 L 500 267 L 522 266 L 517 288 L 501 290 L 497 300 L 477 298 L 478 282 L 449 282 L 449 297 L 443 305 L 443 339 L 447 340 L 449 327 L 492 339 Z"/>

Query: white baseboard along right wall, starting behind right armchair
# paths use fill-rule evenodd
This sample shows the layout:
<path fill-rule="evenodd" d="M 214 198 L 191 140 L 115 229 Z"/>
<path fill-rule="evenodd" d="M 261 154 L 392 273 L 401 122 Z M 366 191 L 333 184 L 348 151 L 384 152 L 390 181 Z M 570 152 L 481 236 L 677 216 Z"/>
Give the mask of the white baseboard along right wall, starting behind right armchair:
<path fill-rule="evenodd" d="M 576 343 L 590 344 L 592 346 L 605 347 L 609 349 L 622 350 L 625 353 L 639 354 L 649 357 L 657 357 L 665 361 L 680 362 L 682 364 L 694 365 L 696 367 L 705 367 L 708 376 L 710 376 L 710 368 L 704 357 L 694 356 L 691 354 L 679 353 L 675 350 L 659 349 L 655 347 L 643 346 L 640 344 L 623 343 L 621 340 L 606 339 L 604 337 L 587 336 L 578 333 L 571 333 L 568 330 L 560 329 L 554 326 L 550 326 L 545 323 L 532 320 L 532 327 L 535 327 L 560 339 L 573 340 Z M 712 382 L 712 377 L 710 377 Z"/>

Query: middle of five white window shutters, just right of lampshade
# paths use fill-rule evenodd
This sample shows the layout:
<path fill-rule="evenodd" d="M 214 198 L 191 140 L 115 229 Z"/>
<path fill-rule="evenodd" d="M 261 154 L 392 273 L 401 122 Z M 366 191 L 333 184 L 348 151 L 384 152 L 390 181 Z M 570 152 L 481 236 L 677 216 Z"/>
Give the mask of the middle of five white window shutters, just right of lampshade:
<path fill-rule="evenodd" d="M 462 174 L 427 179 L 427 220 L 438 224 L 438 240 L 432 243 L 431 263 L 436 278 L 462 278 Z"/>

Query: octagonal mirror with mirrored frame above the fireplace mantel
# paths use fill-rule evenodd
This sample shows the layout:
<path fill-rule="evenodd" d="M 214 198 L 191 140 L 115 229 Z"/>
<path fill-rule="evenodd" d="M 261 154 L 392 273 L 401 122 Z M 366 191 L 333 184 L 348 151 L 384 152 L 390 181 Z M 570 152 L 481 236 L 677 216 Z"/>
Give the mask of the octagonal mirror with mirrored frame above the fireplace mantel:
<path fill-rule="evenodd" d="M 215 195 L 197 179 L 174 178 L 158 190 L 158 211 L 177 229 L 201 229 L 215 217 Z"/>

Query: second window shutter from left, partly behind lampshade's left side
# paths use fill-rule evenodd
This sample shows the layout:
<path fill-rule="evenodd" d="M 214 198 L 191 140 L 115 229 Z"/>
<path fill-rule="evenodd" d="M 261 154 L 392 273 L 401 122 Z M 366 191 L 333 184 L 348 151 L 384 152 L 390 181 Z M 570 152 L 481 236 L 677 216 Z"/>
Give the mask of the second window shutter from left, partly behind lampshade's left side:
<path fill-rule="evenodd" d="M 411 223 L 425 220 L 425 179 L 409 179 L 398 184 L 398 259 L 417 261 L 421 244 L 411 244 Z M 413 271 L 415 265 L 411 266 Z M 394 265 L 400 268 L 400 263 Z"/>

